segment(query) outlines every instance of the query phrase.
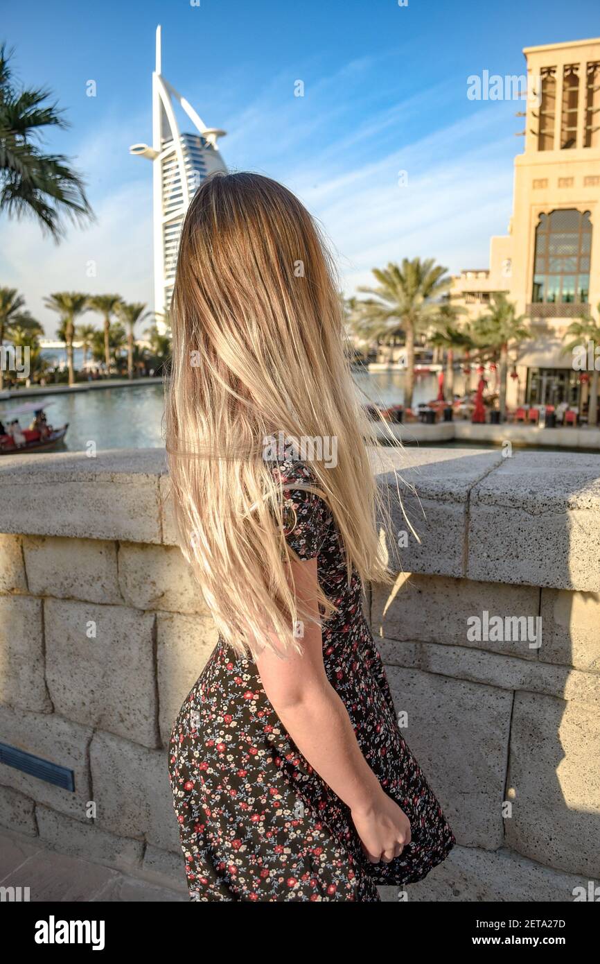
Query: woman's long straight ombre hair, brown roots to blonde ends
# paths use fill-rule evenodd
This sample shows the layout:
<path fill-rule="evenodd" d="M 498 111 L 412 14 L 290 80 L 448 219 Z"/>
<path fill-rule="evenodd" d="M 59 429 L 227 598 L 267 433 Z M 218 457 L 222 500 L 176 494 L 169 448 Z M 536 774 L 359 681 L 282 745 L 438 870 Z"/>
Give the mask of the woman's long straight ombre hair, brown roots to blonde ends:
<path fill-rule="evenodd" d="M 385 514 L 366 443 L 377 444 L 344 352 L 330 255 L 300 201 L 259 174 L 214 174 L 188 209 L 171 306 L 166 442 L 181 549 L 236 652 L 301 652 L 281 481 L 267 440 L 335 440 L 294 484 L 326 500 L 352 567 L 389 582 Z M 334 460 L 335 461 L 335 460 Z M 325 617 L 336 611 L 319 587 Z M 277 644 L 269 638 L 273 633 Z"/>

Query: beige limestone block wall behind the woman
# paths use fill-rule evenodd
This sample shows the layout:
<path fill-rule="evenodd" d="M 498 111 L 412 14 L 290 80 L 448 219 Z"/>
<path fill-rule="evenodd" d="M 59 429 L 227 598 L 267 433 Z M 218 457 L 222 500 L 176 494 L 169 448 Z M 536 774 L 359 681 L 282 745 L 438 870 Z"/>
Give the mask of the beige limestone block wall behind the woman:
<path fill-rule="evenodd" d="M 600 882 L 600 457 L 373 466 L 398 576 L 369 587 L 371 625 L 458 843 L 408 898 L 572 900 Z M 168 491 L 159 449 L 2 460 L 0 743 L 68 767 L 74 790 L 0 762 L 0 822 L 184 892 L 167 744 L 217 633 Z M 541 617 L 541 645 L 474 638 L 484 612 Z"/>

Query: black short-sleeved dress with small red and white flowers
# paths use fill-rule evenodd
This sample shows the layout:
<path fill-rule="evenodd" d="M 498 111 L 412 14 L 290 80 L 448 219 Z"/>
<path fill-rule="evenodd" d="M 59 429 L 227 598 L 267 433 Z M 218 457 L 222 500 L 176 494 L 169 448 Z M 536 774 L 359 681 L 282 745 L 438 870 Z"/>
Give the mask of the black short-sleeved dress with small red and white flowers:
<path fill-rule="evenodd" d="M 170 735 L 169 775 L 190 899 L 378 901 L 378 884 L 422 880 L 456 844 L 399 729 L 362 609 L 362 586 L 333 516 L 298 460 L 279 460 L 287 536 L 339 612 L 323 626 L 326 675 L 344 701 L 362 753 L 410 820 L 411 843 L 389 864 L 363 854 L 349 807 L 300 754 L 269 702 L 253 660 L 220 637 Z"/>

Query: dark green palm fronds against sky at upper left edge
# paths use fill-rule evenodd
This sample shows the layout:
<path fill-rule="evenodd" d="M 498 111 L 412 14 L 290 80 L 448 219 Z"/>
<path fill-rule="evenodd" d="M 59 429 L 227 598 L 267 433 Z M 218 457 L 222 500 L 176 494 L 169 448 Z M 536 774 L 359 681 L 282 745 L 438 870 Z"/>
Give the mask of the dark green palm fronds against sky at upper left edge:
<path fill-rule="evenodd" d="M 0 211 L 17 218 L 33 214 L 55 241 L 65 233 L 65 217 L 93 219 L 84 182 L 63 154 L 47 154 L 36 141 L 43 128 L 68 126 L 63 111 L 47 103 L 41 88 L 16 91 L 9 61 L 13 51 L 0 46 Z M 44 132 L 45 133 L 45 132 Z"/>

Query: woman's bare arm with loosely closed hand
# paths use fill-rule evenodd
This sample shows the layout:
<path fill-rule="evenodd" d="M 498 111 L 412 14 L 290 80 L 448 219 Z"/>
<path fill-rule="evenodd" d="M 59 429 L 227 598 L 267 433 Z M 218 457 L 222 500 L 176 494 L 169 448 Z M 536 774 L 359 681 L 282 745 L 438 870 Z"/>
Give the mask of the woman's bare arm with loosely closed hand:
<path fill-rule="evenodd" d="M 318 618 L 316 558 L 294 560 L 290 569 L 298 600 Z M 370 859 L 391 860 L 410 840 L 408 819 L 382 790 L 362 755 L 348 710 L 327 680 L 318 625 L 304 625 L 302 648 L 301 656 L 291 652 L 282 658 L 263 650 L 256 657 L 267 697 L 302 756 L 350 807 Z"/>

